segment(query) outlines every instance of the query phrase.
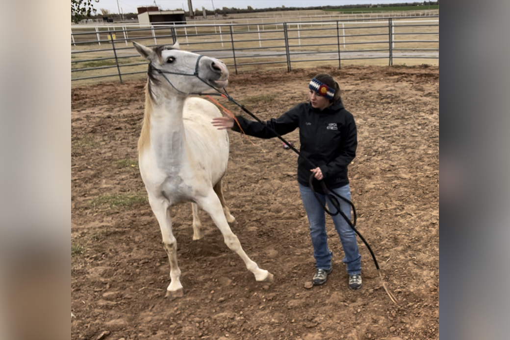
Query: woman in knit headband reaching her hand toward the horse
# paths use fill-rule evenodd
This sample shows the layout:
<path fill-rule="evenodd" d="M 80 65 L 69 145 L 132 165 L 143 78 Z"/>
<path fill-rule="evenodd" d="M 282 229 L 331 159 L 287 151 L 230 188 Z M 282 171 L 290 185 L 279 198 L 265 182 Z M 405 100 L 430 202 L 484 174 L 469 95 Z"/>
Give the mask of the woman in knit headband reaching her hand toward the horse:
<path fill-rule="evenodd" d="M 336 212 L 324 195 L 319 181 L 324 181 L 335 193 L 350 200 L 347 165 L 356 156 L 358 137 L 354 118 L 344 108 L 340 88 L 333 77 L 319 74 L 310 81 L 309 89 L 310 102 L 298 104 L 277 119 L 259 123 L 241 116 L 236 118 L 244 133 L 259 138 L 275 137 L 272 130 L 284 135 L 299 128 L 301 144 L 299 152 L 302 156 L 297 160 L 298 183 L 304 210 L 310 222 L 310 236 L 317 269 L 312 282 L 317 286 L 324 284 L 327 275 L 333 270 L 331 267 L 333 252 L 327 246 L 324 209 L 309 187 L 310 176 L 314 174 L 316 180 L 313 181 L 313 187 L 322 205 L 326 202 L 329 211 Z M 218 129 L 241 131 L 230 117 L 214 118 L 213 125 Z M 312 165 L 305 158 L 310 159 L 318 167 L 311 168 Z M 343 200 L 338 201 L 342 212 L 350 218 L 349 204 Z M 345 253 L 343 262 L 349 274 L 349 288 L 359 289 L 362 285 L 361 255 L 356 235 L 340 214 L 333 216 L 333 222 Z"/>

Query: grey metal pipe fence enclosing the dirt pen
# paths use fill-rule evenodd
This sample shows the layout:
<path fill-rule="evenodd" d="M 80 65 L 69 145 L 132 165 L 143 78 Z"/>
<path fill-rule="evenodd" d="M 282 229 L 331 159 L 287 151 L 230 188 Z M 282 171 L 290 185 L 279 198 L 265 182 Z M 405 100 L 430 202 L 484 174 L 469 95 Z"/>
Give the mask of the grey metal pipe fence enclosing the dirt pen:
<path fill-rule="evenodd" d="M 312 62 L 341 68 L 350 60 L 388 59 L 393 65 L 394 59 L 439 59 L 439 16 L 74 29 L 71 80 L 118 77 L 122 82 L 122 76 L 145 73 L 147 62 L 132 41 L 146 46 L 179 41 L 183 49 L 223 60 L 236 74 L 263 65 L 286 64 L 291 71 Z"/>

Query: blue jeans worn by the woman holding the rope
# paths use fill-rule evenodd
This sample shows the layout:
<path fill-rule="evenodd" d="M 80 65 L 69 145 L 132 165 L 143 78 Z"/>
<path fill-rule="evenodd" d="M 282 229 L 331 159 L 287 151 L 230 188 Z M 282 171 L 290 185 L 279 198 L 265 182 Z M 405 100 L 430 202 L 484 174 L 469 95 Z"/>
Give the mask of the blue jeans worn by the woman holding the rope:
<path fill-rule="evenodd" d="M 350 201 L 350 188 L 348 184 L 333 189 L 333 191 Z M 310 236 L 312 237 L 312 244 L 314 246 L 315 267 L 317 269 L 327 270 L 331 268 L 333 252 L 331 252 L 327 246 L 326 213 L 309 187 L 299 184 L 299 192 L 301 193 L 304 210 L 307 212 L 308 221 L 310 222 Z M 321 193 L 317 193 L 317 195 L 322 204 L 327 201 L 327 208 L 330 212 L 335 213 L 337 211 L 329 199 L 326 199 L 326 195 Z M 341 199 L 338 199 L 338 201 L 340 202 L 342 212 L 350 218 L 350 205 Z M 358 243 L 356 243 L 356 234 L 342 215 L 338 214 L 331 217 L 333 218 L 333 224 L 335 224 L 335 229 L 340 237 L 340 242 L 342 242 L 345 253 L 343 262 L 347 265 L 347 273 L 349 275 L 360 274 L 361 255 L 358 249 Z"/>

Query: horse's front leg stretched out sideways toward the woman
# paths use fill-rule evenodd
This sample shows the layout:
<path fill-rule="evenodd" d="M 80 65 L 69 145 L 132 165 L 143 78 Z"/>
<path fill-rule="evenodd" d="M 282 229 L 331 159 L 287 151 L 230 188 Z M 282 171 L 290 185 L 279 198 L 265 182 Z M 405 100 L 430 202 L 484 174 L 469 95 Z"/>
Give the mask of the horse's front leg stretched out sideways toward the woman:
<path fill-rule="evenodd" d="M 223 212 L 223 207 L 221 206 L 218 195 L 215 193 L 213 188 L 211 188 L 206 196 L 198 197 L 195 200 L 198 205 L 205 210 L 214 223 L 223 234 L 223 239 L 228 248 L 234 250 L 240 257 L 243 259 L 246 264 L 246 268 L 255 275 L 255 279 L 257 281 L 268 281 L 272 282 L 273 274 L 268 272 L 267 270 L 260 269 L 257 263 L 252 261 L 247 254 L 244 252 L 243 247 L 241 246 L 241 242 L 236 235 L 230 229 L 228 222 L 226 220 L 225 214 Z"/>

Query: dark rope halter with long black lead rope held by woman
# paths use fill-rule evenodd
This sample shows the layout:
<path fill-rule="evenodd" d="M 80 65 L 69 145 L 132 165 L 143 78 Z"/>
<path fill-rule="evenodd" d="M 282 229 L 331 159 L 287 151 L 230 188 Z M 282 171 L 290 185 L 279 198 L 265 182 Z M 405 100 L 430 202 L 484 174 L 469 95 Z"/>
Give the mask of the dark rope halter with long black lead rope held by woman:
<path fill-rule="evenodd" d="M 253 119 L 255 119 L 257 122 L 259 123 L 262 123 L 262 124 L 265 124 L 265 122 L 261 121 L 257 116 L 255 116 L 250 110 L 248 110 L 244 105 L 238 103 L 234 98 L 232 98 L 228 92 L 226 91 L 225 88 L 223 88 L 223 91 L 224 93 L 222 93 L 220 90 L 216 89 L 214 86 L 212 86 L 210 83 L 208 83 L 206 80 L 203 80 L 202 78 L 200 78 L 198 76 L 198 62 L 200 61 L 200 58 L 202 58 L 202 55 L 199 55 L 198 56 L 198 59 L 196 60 L 196 64 L 195 64 L 195 72 L 193 74 L 186 74 L 186 73 L 177 73 L 177 72 L 169 72 L 169 71 L 163 71 L 161 69 L 158 69 L 156 67 L 154 67 L 153 65 L 150 65 L 150 67 L 152 69 L 154 69 L 155 71 L 157 71 L 159 74 L 161 74 L 165 79 L 166 81 L 172 86 L 172 88 L 175 89 L 175 91 L 179 92 L 179 93 L 182 93 L 182 94 L 186 94 L 186 95 L 205 95 L 204 93 L 186 93 L 186 92 L 183 92 L 183 91 L 180 91 L 179 89 L 177 89 L 175 86 L 173 86 L 172 82 L 166 77 L 165 73 L 167 74 L 175 74 L 175 75 L 185 75 L 185 76 L 195 76 L 197 77 L 198 79 L 200 79 L 203 83 L 207 84 L 209 87 L 211 87 L 212 89 L 214 89 L 215 91 L 217 91 L 218 93 L 214 93 L 214 94 L 208 94 L 208 95 L 216 95 L 216 96 L 222 96 L 222 97 L 225 97 L 226 99 L 228 99 L 229 101 L 233 102 L 234 104 L 236 104 L 237 106 L 239 106 L 244 112 L 246 112 L 246 114 L 248 114 L 249 116 L 251 116 Z M 280 134 L 278 134 L 276 131 L 274 131 L 274 129 L 272 129 L 270 126 L 268 126 L 267 124 L 265 124 L 269 130 L 271 130 L 271 132 L 274 133 L 274 135 L 276 137 L 278 137 L 278 139 L 282 140 L 283 143 L 285 143 L 292 151 L 294 151 L 298 156 L 302 157 L 304 160 L 306 160 L 307 162 L 309 162 L 314 168 L 317 168 L 318 166 L 312 162 L 310 159 L 308 159 L 307 157 L 301 155 L 301 153 L 296 149 L 294 148 L 294 146 L 292 146 L 292 144 L 290 144 L 287 140 L 285 140 L 284 137 L 282 137 Z M 345 221 L 347 222 L 347 224 L 349 224 L 350 228 L 354 231 L 354 233 L 356 233 L 356 235 L 358 235 L 360 237 L 360 239 L 363 241 L 363 243 L 367 246 L 368 248 L 368 251 L 370 252 L 370 255 L 372 256 L 372 260 L 374 261 L 374 264 L 375 264 L 375 268 L 377 269 L 378 273 L 379 273 L 379 279 L 381 280 L 381 283 L 382 283 L 382 287 L 384 288 L 384 290 L 386 291 L 386 293 L 388 294 L 388 296 L 390 297 L 390 299 L 398 304 L 397 300 L 395 299 L 395 297 L 393 296 L 393 294 L 390 293 L 390 291 L 388 290 L 388 288 L 386 287 L 386 284 L 385 284 L 385 281 L 384 279 L 382 279 L 382 274 L 380 272 L 380 269 L 379 269 L 379 264 L 377 263 L 377 259 L 375 258 L 375 254 L 374 252 L 372 251 L 372 248 L 370 247 L 370 245 L 368 244 L 368 242 L 365 240 L 365 238 L 363 237 L 363 235 L 361 235 L 361 233 L 358 231 L 358 229 L 356 229 L 356 209 L 354 207 L 354 204 L 346 199 L 344 196 L 342 195 L 339 195 L 337 194 L 336 192 L 334 192 L 333 190 L 331 190 L 326 183 L 324 183 L 324 181 L 320 181 L 320 184 L 322 186 L 322 189 L 324 191 L 324 194 L 327 195 L 329 201 L 331 202 L 331 204 L 333 204 L 333 206 L 335 207 L 335 209 L 337 209 L 337 212 L 336 213 L 332 213 L 330 212 L 327 207 L 326 207 L 326 204 L 322 204 L 321 200 L 319 199 L 319 196 L 317 195 L 317 193 L 315 192 L 314 190 L 314 187 L 313 187 L 313 180 L 315 178 L 315 175 L 312 174 L 310 176 L 310 189 L 312 190 L 312 192 L 314 193 L 315 195 L 315 198 L 317 199 L 317 201 L 319 202 L 319 204 L 321 205 L 321 207 L 324 209 L 324 211 L 330 215 L 330 216 L 335 216 L 335 215 L 338 215 L 340 214 L 344 219 Z M 337 196 L 339 199 L 347 202 L 349 204 L 349 206 L 352 208 L 352 215 L 353 215 L 353 222 L 350 221 L 350 219 L 342 212 L 342 210 L 340 209 L 340 202 L 338 201 Z"/>

